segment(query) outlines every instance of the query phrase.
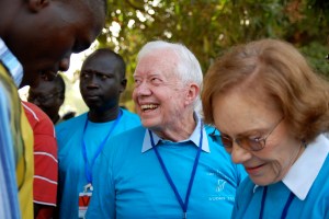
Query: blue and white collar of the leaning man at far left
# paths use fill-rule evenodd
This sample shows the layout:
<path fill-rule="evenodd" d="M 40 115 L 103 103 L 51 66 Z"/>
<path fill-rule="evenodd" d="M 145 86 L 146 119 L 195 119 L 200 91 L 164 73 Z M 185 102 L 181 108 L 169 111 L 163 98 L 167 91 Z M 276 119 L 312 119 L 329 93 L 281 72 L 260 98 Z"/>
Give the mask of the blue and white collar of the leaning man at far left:
<path fill-rule="evenodd" d="M 9 73 L 13 78 L 15 85 L 20 88 L 23 79 L 23 67 L 16 57 L 9 50 L 4 42 L 0 38 L 0 61 L 9 70 Z"/>

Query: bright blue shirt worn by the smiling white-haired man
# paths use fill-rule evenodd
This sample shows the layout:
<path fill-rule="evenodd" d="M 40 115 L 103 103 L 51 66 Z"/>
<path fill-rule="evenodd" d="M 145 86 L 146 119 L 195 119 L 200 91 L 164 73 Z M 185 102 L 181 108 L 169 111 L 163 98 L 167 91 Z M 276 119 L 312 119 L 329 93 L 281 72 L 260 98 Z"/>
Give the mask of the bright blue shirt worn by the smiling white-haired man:
<path fill-rule="evenodd" d="M 205 129 L 209 150 L 202 150 L 200 155 L 188 218 L 230 218 L 236 189 L 246 172 L 208 136 L 214 128 Z M 182 208 L 155 150 L 144 150 L 145 138 L 149 142 L 147 132 L 141 126 L 134 128 L 114 137 L 112 146 L 104 148 L 95 164 L 100 177 L 94 178 L 97 187 L 87 218 L 182 218 Z M 160 140 L 156 147 L 184 201 L 197 145 L 193 140 Z"/>

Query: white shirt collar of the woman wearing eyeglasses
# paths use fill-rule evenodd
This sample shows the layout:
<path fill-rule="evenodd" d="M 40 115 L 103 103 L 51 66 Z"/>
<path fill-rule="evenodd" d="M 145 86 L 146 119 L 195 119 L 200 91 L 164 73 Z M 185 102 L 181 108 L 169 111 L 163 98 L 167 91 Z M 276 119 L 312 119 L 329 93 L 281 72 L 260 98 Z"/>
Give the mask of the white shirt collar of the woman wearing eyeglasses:
<path fill-rule="evenodd" d="M 310 191 L 329 153 L 329 140 L 320 135 L 308 145 L 298 160 L 284 176 L 282 182 L 300 200 L 304 200 Z M 254 186 L 253 192 L 258 185 Z"/>

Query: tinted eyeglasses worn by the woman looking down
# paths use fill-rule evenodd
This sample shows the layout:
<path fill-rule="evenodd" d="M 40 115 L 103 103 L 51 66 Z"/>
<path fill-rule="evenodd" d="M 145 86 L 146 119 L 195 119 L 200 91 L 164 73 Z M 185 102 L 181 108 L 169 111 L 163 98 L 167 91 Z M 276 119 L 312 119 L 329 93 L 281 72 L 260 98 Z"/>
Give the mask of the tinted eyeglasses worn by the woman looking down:
<path fill-rule="evenodd" d="M 266 139 L 269 138 L 269 136 L 275 130 L 275 128 L 279 126 L 279 124 L 284 119 L 284 117 L 282 117 L 276 124 L 275 126 L 272 128 L 272 130 L 264 137 L 262 138 L 250 138 L 250 137 L 239 137 L 236 139 L 231 139 L 227 136 L 223 136 L 220 134 L 220 140 L 222 140 L 222 145 L 224 148 L 226 148 L 227 150 L 231 150 L 232 149 L 232 141 L 235 141 L 236 143 L 238 143 L 241 148 L 248 150 L 248 151 L 260 151 L 262 150 L 265 145 L 266 145 Z"/>

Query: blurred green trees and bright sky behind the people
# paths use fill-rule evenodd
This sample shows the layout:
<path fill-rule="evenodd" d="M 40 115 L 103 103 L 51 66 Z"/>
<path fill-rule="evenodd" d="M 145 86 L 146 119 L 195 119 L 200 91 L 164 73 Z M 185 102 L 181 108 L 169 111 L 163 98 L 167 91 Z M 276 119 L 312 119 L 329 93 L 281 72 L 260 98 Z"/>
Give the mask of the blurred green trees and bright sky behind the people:
<path fill-rule="evenodd" d="M 329 77 L 329 0 L 107 0 L 106 24 L 98 41 L 71 57 L 63 76 L 66 101 L 60 114 L 87 107 L 79 92 L 79 70 L 94 49 L 109 47 L 127 64 L 128 87 L 122 105 L 134 111 L 136 55 L 154 39 L 179 42 L 200 60 L 203 72 L 231 46 L 272 37 L 294 44 L 316 71 Z M 29 88 L 20 90 L 22 99 Z"/>

